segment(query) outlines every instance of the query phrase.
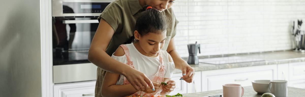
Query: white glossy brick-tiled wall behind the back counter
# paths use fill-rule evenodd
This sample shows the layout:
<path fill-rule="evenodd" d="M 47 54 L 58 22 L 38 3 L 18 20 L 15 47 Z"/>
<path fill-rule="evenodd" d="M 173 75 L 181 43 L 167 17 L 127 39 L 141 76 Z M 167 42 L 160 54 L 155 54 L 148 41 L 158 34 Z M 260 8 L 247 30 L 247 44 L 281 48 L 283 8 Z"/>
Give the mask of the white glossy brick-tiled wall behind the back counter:
<path fill-rule="evenodd" d="M 175 0 L 175 45 L 201 44 L 199 55 L 292 49 L 292 20 L 305 18 L 305 0 Z"/>

